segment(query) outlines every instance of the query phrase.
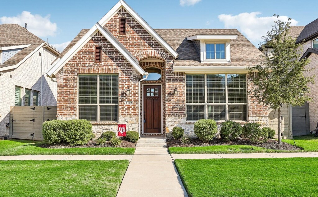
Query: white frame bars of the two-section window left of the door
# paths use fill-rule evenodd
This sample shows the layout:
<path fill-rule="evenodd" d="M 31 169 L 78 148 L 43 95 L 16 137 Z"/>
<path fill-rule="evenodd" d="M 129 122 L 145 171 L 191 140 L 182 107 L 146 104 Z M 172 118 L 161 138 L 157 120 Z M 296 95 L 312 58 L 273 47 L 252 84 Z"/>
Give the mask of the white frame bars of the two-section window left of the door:
<path fill-rule="evenodd" d="M 97 104 L 79 104 L 79 75 L 97 75 Z M 77 75 L 77 119 L 79 119 L 79 106 L 97 106 L 97 115 L 96 121 L 89 120 L 91 122 L 118 122 L 119 119 L 119 107 L 117 108 L 117 121 L 113 120 L 100 120 L 100 106 L 103 105 L 118 105 L 119 103 L 119 83 L 118 83 L 118 103 L 117 104 L 100 104 L 100 75 L 117 75 L 119 80 L 119 75 L 117 73 L 110 73 L 110 74 L 78 74 Z"/>

